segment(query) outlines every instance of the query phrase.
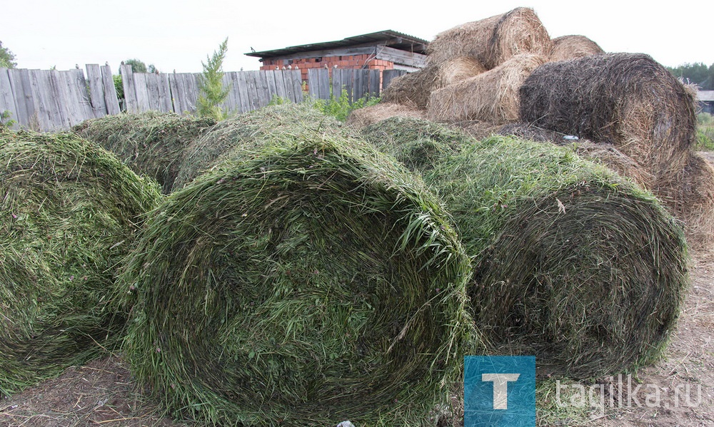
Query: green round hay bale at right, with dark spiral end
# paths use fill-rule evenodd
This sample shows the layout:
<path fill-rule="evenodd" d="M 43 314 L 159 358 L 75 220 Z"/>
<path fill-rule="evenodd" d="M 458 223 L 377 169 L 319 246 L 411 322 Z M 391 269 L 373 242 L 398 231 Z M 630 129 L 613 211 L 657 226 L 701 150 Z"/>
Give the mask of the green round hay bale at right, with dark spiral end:
<path fill-rule="evenodd" d="M 688 283 L 682 231 L 658 200 L 568 148 L 436 126 L 388 119 L 365 132 L 391 135 L 388 150 L 418 133 L 445 153 L 423 177 L 474 257 L 476 323 L 499 351 L 578 378 L 657 357 Z"/>

